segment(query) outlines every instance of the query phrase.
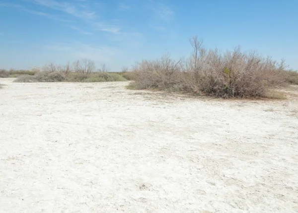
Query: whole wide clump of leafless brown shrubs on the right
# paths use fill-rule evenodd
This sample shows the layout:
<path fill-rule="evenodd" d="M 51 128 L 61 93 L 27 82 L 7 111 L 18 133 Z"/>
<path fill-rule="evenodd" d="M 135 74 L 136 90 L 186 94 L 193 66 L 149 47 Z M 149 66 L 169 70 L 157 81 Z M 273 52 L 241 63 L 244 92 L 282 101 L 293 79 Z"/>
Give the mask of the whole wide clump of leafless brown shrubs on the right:
<path fill-rule="evenodd" d="M 277 63 L 256 53 L 243 53 L 239 48 L 224 54 L 207 50 L 196 37 L 191 44 L 193 53 L 188 60 L 176 62 L 164 56 L 137 64 L 130 87 L 224 98 L 264 97 L 269 89 L 285 82 L 283 61 Z"/>

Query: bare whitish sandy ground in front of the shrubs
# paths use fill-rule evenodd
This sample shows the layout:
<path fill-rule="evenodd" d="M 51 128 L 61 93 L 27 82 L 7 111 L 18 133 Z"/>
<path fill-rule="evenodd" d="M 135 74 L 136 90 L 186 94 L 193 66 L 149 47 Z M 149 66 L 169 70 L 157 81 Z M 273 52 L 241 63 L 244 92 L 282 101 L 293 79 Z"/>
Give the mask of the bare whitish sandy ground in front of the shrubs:
<path fill-rule="evenodd" d="M 256 101 L 0 83 L 1 213 L 298 212 L 298 87 Z"/>

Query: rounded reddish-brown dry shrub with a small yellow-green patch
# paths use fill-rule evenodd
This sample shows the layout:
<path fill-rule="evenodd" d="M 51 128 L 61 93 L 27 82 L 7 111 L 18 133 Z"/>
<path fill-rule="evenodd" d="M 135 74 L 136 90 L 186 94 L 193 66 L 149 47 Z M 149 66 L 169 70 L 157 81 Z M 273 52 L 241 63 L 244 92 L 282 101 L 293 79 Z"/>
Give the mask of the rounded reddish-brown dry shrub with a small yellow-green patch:
<path fill-rule="evenodd" d="M 191 58 L 184 71 L 185 86 L 190 91 L 220 97 L 260 97 L 266 90 L 283 83 L 283 63 L 278 64 L 256 53 L 242 53 L 239 48 L 220 54 L 216 50 L 202 51 L 197 69 Z"/>

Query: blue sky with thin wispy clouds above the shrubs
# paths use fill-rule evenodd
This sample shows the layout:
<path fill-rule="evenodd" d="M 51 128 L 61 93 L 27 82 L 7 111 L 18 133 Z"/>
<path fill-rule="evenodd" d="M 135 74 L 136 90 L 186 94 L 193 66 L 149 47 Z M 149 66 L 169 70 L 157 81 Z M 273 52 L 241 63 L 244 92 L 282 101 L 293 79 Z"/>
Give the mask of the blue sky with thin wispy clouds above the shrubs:
<path fill-rule="evenodd" d="M 112 71 L 168 52 L 258 50 L 298 70 L 298 0 L 0 0 L 0 68 L 81 58 Z"/>

